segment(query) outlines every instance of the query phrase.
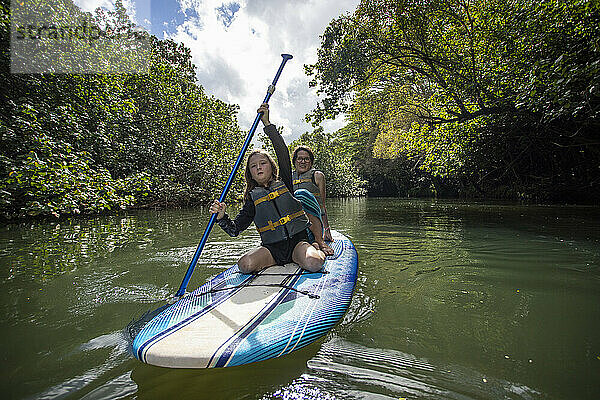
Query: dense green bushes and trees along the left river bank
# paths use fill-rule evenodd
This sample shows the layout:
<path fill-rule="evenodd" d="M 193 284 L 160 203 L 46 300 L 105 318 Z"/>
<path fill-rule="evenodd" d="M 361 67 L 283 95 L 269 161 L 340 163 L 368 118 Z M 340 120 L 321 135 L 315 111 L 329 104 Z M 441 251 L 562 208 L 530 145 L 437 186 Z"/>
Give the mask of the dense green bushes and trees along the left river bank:
<path fill-rule="evenodd" d="M 135 28 L 120 3 L 87 17 Z M 2 216 L 188 205 L 218 193 L 242 140 L 237 106 L 204 93 L 189 49 L 144 32 L 148 73 L 11 74 L 8 21 L 3 3 Z M 232 195 L 240 191 L 237 180 Z"/>

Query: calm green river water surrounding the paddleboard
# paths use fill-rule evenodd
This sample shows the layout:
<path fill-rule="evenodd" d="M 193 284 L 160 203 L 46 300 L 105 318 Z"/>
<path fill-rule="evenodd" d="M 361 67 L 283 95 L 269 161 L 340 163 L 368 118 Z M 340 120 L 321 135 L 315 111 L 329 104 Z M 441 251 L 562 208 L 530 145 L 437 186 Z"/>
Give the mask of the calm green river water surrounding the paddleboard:
<path fill-rule="evenodd" d="M 350 309 L 281 359 L 144 365 L 123 328 L 178 288 L 206 210 L 0 226 L 2 398 L 598 399 L 600 209 L 329 200 Z M 189 285 L 258 242 L 215 227 Z"/>

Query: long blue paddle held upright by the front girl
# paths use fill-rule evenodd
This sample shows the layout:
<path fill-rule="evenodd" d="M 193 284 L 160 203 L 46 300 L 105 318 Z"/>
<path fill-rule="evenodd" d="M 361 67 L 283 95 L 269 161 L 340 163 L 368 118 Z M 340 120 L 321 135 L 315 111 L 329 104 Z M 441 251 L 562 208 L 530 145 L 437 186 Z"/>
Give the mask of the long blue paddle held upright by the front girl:
<path fill-rule="evenodd" d="M 283 57 L 283 60 L 281 61 L 281 65 L 279 66 L 279 69 L 277 70 L 277 74 L 275 74 L 275 79 L 273 79 L 273 83 L 271 85 L 269 85 L 269 88 L 267 89 L 267 95 L 265 96 L 263 103 L 269 102 L 269 99 L 271 98 L 271 96 L 273 95 L 273 92 L 275 91 L 275 85 L 277 84 L 277 81 L 279 80 L 279 75 L 281 75 L 281 71 L 283 71 L 283 67 L 285 66 L 285 63 L 288 62 L 288 60 L 292 59 L 291 54 L 282 54 L 281 57 Z M 236 174 L 237 170 L 239 169 L 240 164 L 242 163 L 242 160 L 244 158 L 244 154 L 246 153 L 246 150 L 248 149 L 248 146 L 250 145 L 250 141 L 252 140 L 252 135 L 254 135 L 254 131 L 256 130 L 256 127 L 258 126 L 258 122 L 260 121 L 261 115 L 262 115 L 262 113 L 258 113 L 256 115 L 256 118 L 254 119 L 254 123 L 252 124 L 252 127 L 250 128 L 250 131 L 248 132 L 248 136 L 246 136 L 246 141 L 244 142 L 244 145 L 242 146 L 242 150 L 240 151 L 240 154 L 238 155 L 238 158 L 233 166 L 233 169 L 231 170 L 231 173 L 229 174 L 229 179 L 227 179 L 227 183 L 225 183 L 225 187 L 223 188 L 223 191 L 221 192 L 221 196 L 219 197 L 220 202 L 223 202 L 225 200 L 225 197 L 227 196 L 227 192 L 229 192 L 231 183 L 233 182 L 233 179 L 235 178 L 235 174 Z M 202 239 L 200 240 L 200 243 L 198 244 L 198 248 L 196 249 L 194 258 L 192 258 L 192 262 L 190 263 L 190 266 L 188 267 L 187 272 L 185 273 L 185 277 L 183 278 L 183 281 L 181 282 L 179 289 L 173 296 L 173 300 L 176 301 L 185 294 L 185 289 L 187 288 L 190 278 L 192 277 L 192 273 L 194 272 L 194 268 L 196 268 L 196 263 L 198 262 L 198 258 L 200 257 L 200 254 L 202 253 L 202 250 L 204 249 L 204 245 L 206 244 L 208 235 L 210 234 L 210 231 L 211 231 L 213 225 L 215 224 L 216 220 L 217 220 L 217 214 L 212 214 L 210 217 L 210 220 L 208 221 L 208 225 L 207 225 L 206 229 L 204 230 Z"/>

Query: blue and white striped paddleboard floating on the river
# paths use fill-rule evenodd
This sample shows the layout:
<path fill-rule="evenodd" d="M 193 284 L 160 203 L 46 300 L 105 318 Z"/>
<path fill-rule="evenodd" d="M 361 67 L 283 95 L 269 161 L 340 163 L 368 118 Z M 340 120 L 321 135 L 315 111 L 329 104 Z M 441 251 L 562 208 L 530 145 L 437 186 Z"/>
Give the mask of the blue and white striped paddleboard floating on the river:
<path fill-rule="evenodd" d="M 321 271 L 287 264 L 242 274 L 234 265 L 148 321 L 133 338 L 133 354 L 163 367 L 215 368 L 314 342 L 344 315 L 356 283 L 356 249 L 332 235 L 335 254 Z"/>

